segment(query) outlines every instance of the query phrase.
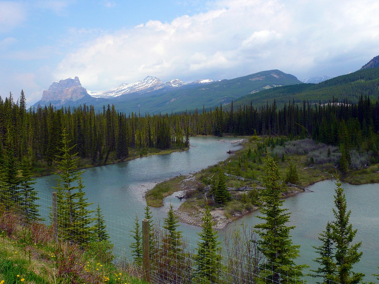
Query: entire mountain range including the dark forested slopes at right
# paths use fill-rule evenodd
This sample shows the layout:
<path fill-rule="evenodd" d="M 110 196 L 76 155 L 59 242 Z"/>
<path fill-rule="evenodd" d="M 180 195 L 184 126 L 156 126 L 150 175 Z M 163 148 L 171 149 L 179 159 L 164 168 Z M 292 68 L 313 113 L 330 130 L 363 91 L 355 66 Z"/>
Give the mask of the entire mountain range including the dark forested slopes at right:
<path fill-rule="evenodd" d="M 299 81 L 295 76 L 280 70 L 268 70 L 230 80 L 199 80 L 184 83 L 179 79 L 162 82 L 157 77 L 121 84 L 106 92 L 91 92 L 81 86 L 78 77 L 54 82 L 45 90 L 42 99 L 34 106 L 51 103 L 78 107 L 93 105 L 102 111 L 103 106 L 115 105 L 121 112 L 141 114 L 194 111 L 201 108 L 229 107 L 250 104 L 265 105 L 276 100 L 277 105 L 288 101 L 304 100 L 318 103 L 338 100 L 357 102 L 360 95 L 379 96 L 379 56 L 374 57 L 360 70 L 334 78 L 310 77 Z M 312 82 L 312 83 L 310 83 Z"/>

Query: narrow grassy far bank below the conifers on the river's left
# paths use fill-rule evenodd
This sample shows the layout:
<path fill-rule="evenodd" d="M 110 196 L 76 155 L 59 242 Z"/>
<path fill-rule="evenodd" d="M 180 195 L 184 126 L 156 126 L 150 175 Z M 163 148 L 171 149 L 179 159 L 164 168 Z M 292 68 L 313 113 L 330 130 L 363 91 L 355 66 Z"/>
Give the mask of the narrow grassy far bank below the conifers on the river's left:
<path fill-rule="evenodd" d="M 85 170 L 87 168 L 100 167 L 103 165 L 111 165 L 111 164 L 117 164 L 117 163 L 122 163 L 122 162 L 126 162 L 126 161 L 131 161 L 131 160 L 146 157 L 146 156 L 170 154 L 170 153 L 174 153 L 174 152 L 182 152 L 182 151 L 186 151 L 188 149 L 189 149 L 189 147 L 172 148 L 172 149 L 168 149 L 168 150 L 160 150 L 160 149 L 156 149 L 156 148 L 149 148 L 149 149 L 142 149 L 142 150 L 132 149 L 132 150 L 130 150 L 130 153 L 129 153 L 127 158 L 114 159 L 114 157 L 111 157 L 110 159 L 108 159 L 108 161 L 106 163 L 96 164 L 96 165 L 92 165 L 90 159 L 81 158 L 81 159 L 79 159 L 77 169 L 78 170 Z M 38 176 L 52 175 L 52 174 L 56 173 L 56 170 L 53 168 L 44 167 L 43 164 L 41 164 L 41 163 L 37 163 L 33 167 L 32 172 L 33 172 L 33 175 L 32 175 L 33 177 L 38 177 Z"/>

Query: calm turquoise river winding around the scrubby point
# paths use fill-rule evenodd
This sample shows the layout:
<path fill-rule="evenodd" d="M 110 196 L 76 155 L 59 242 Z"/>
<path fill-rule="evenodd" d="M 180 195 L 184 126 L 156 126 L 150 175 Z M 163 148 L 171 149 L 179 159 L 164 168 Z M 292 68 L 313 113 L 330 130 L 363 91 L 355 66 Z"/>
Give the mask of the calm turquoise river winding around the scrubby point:
<path fill-rule="evenodd" d="M 138 214 L 141 220 L 144 214 L 144 193 L 164 179 L 197 172 L 223 161 L 229 155 L 226 151 L 240 148 L 237 144 L 231 144 L 234 138 L 223 137 L 222 140 L 225 142 L 219 142 L 216 137 L 191 137 L 188 151 L 93 167 L 83 173 L 88 202 L 94 202 L 92 209 L 96 209 L 97 203 L 100 204 L 116 254 L 130 255 L 128 243 L 133 241 L 130 230 L 133 229 L 135 215 Z M 41 214 L 45 218 L 48 216 L 47 206 L 51 204 L 51 192 L 54 191 L 52 186 L 56 185 L 55 178 L 50 175 L 36 179 L 35 188 L 39 191 Z M 343 187 L 348 209 L 352 211 L 350 221 L 358 229 L 354 241 L 362 241 L 363 256 L 355 271 L 365 273 L 365 281 L 375 282 L 376 278 L 371 274 L 379 273 L 376 268 L 379 265 L 379 184 L 343 184 Z M 296 226 L 291 231 L 293 243 L 301 245 L 301 257 L 296 262 L 308 264 L 311 269 L 316 269 L 312 259 L 317 257 L 312 245 L 320 245 L 318 234 L 325 229 L 328 220 L 333 220 L 334 188 L 334 181 L 321 181 L 309 187 L 314 192 L 299 193 L 287 198 L 284 203 L 291 212 L 291 225 Z M 178 208 L 182 201 L 174 195 L 165 199 L 165 205 L 171 202 L 174 208 Z M 152 208 L 154 217 L 163 220 L 168 207 Z M 259 212 L 253 212 L 237 222 L 255 224 L 259 220 L 255 217 L 257 214 Z M 190 243 L 196 245 L 196 233 L 201 228 L 181 224 L 179 229 Z"/>

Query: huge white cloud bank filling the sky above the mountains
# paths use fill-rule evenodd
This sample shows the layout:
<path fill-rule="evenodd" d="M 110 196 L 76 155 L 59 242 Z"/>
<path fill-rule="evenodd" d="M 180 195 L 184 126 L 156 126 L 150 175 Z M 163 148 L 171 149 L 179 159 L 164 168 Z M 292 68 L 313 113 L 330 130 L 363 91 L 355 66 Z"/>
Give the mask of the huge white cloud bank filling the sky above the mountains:
<path fill-rule="evenodd" d="M 147 75 L 163 81 L 218 80 L 280 69 L 302 79 L 354 71 L 379 54 L 379 2 L 374 0 L 209 5 L 205 13 L 102 34 L 68 54 L 53 75 L 56 80 L 79 76 L 93 91 Z"/>

